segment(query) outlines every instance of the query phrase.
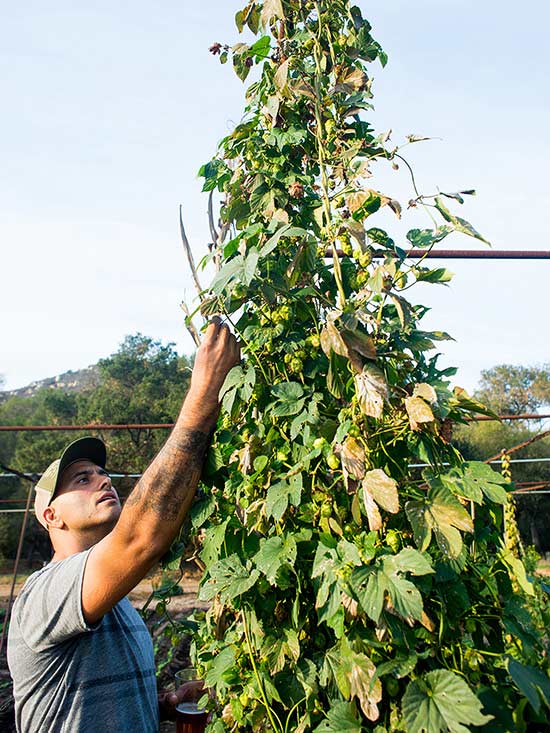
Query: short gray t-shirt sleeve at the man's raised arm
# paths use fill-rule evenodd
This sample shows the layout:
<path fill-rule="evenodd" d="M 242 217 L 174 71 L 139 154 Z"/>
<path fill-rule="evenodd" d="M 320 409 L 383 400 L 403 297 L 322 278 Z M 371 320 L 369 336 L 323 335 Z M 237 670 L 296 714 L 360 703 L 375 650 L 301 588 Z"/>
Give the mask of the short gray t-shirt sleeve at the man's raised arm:
<path fill-rule="evenodd" d="M 82 581 L 90 550 L 54 563 L 29 581 L 14 607 L 23 639 L 35 651 L 67 641 L 101 625 L 86 623 Z"/>

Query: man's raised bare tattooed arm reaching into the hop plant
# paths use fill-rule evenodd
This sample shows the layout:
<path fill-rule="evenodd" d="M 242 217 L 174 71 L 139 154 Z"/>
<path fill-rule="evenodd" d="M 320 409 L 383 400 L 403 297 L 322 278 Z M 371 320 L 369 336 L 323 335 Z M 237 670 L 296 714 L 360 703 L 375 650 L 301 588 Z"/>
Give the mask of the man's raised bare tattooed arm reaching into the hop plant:
<path fill-rule="evenodd" d="M 220 388 L 239 358 L 235 337 L 216 319 L 197 351 L 191 386 L 170 437 L 126 500 L 113 531 L 90 552 L 82 587 L 88 623 L 135 587 L 178 532 L 216 424 Z"/>

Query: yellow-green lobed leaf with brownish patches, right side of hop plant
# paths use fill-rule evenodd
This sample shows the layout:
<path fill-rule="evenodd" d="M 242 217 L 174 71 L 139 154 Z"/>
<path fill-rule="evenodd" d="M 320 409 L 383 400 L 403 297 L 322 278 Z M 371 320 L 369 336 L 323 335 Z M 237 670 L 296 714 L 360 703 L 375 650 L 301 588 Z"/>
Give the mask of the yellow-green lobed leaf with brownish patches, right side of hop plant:
<path fill-rule="evenodd" d="M 473 532 L 472 519 L 449 489 L 434 482 L 424 501 L 408 501 L 405 511 L 418 547 L 426 550 L 435 534 L 443 554 L 456 559 L 462 550 L 462 537 L 458 530 Z"/>

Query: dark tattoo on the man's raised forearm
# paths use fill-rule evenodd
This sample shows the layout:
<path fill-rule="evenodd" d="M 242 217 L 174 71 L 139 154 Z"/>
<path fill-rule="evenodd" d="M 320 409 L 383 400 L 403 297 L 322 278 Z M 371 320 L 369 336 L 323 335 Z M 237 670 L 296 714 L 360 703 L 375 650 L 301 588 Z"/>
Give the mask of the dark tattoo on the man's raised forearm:
<path fill-rule="evenodd" d="M 211 435 L 200 430 L 174 431 L 126 500 L 126 506 L 176 521 L 182 505 L 189 503 L 195 493 L 210 439 Z"/>

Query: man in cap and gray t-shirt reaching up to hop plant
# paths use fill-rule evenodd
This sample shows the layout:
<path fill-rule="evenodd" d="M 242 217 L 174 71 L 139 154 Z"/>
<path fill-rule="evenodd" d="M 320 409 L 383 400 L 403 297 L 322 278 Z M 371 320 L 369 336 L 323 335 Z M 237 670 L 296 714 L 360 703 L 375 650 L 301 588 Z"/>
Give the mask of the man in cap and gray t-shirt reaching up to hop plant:
<path fill-rule="evenodd" d="M 238 361 L 234 336 L 215 319 L 176 425 L 123 509 L 95 438 L 72 443 L 37 484 L 36 516 L 54 555 L 13 607 L 8 664 L 20 733 L 157 732 L 152 642 L 126 595 L 189 510 L 219 390 Z"/>

